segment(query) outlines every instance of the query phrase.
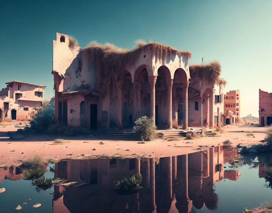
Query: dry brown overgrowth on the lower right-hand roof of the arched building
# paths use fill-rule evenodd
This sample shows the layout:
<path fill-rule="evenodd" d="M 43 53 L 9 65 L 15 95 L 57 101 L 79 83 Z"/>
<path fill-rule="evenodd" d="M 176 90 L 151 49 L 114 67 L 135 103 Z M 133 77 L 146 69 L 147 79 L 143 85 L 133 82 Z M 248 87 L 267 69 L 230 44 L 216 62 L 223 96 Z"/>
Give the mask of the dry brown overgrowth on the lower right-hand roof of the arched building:
<path fill-rule="evenodd" d="M 221 65 L 218 61 L 212 61 L 209 64 L 194 64 L 189 66 L 191 72 L 195 72 L 199 78 L 206 78 L 209 82 L 219 86 L 225 86 L 226 80 L 220 78 Z"/>

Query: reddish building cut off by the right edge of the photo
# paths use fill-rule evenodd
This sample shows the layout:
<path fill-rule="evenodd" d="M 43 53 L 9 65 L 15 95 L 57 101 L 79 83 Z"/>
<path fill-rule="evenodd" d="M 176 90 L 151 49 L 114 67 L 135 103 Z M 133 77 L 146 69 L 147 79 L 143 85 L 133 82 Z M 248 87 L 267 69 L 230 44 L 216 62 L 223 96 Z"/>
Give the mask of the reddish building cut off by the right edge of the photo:
<path fill-rule="evenodd" d="M 272 124 L 272 93 L 259 89 L 259 126 Z"/>

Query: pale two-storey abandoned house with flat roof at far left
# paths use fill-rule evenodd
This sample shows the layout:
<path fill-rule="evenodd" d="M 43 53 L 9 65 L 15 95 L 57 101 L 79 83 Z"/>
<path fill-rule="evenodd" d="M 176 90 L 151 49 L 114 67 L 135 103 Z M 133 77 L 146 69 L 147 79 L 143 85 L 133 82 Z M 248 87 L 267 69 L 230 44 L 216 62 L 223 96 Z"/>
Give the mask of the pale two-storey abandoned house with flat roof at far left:
<path fill-rule="evenodd" d="M 0 91 L 0 122 L 33 119 L 35 107 L 42 106 L 46 86 L 12 81 Z"/>

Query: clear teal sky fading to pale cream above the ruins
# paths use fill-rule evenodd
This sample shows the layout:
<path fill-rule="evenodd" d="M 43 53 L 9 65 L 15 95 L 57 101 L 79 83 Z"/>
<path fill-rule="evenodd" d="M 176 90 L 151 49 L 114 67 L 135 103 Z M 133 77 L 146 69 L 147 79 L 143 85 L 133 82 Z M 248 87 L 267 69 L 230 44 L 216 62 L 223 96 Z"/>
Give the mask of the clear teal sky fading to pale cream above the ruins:
<path fill-rule="evenodd" d="M 225 92 L 239 89 L 241 116 L 258 116 L 258 90 L 272 92 L 272 1 L 0 2 L 0 87 L 19 80 L 53 95 L 56 32 L 132 48 L 136 39 L 192 52 L 190 64 L 218 60 Z"/>

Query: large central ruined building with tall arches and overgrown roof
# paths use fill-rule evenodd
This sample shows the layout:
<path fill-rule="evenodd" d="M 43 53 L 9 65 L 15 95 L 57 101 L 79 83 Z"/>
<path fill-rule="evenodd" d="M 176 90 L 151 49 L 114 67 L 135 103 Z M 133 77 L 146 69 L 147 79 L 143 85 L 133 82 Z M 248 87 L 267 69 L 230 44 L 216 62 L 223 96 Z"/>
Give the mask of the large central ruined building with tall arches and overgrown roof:
<path fill-rule="evenodd" d="M 190 57 L 156 42 L 131 51 L 97 42 L 81 49 L 74 38 L 57 33 L 55 120 L 68 127 L 122 129 L 146 115 L 159 128 L 217 126 L 225 84 L 220 64 L 194 65 L 191 72 Z"/>

